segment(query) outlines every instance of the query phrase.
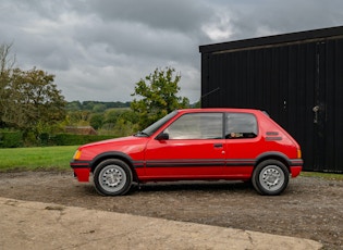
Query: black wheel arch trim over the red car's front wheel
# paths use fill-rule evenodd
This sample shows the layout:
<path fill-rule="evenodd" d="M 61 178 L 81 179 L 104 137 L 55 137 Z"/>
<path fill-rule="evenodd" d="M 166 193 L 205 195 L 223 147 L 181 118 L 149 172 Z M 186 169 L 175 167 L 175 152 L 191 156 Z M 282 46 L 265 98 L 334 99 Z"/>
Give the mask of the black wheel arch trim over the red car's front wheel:
<path fill-rule="evenodd" d="M 120 152 L 120 151 L 108 151 L 108 152 L 103 152 L 103 153 L 100 153 L 97 157 L 95 157 L 90 163 L 90 172 L 94 173 L 96 166 L 100 162 L 102 162 L 105 160 L 109 160 L 109 159 L 118 159 L 118 160 L 125 162 L 132 172 L 133 180 L 138 182 L 137 173 L 133 166 L 132 158 L 130 155 L 123 153 L 123 152 Z"/>

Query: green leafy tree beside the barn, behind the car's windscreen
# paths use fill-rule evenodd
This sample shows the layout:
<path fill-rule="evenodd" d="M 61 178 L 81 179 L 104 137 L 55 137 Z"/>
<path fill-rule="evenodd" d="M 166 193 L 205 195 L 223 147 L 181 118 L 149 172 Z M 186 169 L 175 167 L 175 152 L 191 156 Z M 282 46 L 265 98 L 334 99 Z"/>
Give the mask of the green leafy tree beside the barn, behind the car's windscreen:
<path fill-rule="evenodd" d="M 157 120 L 176 109 L 186 108 L 189 101 L 185 97 L 177 97 L 180 90 L 179 82 L 181 75 L 173 75 L 172 67 L 166 70 L 156 68 L 150 74 L 136 83 L 135 92 L 132 96 L 140 97 L 134 99 L 131 109 L 137 113 L 139 129 L 147 127 Z"/>

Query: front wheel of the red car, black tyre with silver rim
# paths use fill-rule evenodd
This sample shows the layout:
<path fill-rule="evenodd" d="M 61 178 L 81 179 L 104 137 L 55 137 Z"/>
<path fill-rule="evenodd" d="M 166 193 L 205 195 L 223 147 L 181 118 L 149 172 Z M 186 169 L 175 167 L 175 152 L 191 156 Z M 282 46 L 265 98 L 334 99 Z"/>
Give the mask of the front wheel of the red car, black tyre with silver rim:
<path fill-rule="evenodd" d="M 118 159 L 100 162 L 94 171 L 95 189 L 102 196 L 125 195 L 132 185 L 130 166 Z"/>

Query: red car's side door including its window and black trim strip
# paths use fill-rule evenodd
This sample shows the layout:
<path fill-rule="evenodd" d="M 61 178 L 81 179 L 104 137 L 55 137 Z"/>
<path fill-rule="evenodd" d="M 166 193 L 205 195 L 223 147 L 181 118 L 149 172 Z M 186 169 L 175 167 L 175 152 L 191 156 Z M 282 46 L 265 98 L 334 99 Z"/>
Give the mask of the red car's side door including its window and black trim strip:
<path fill-rule="evenodd" d="M 186 113 L 146 148 L 146 177 L 216 178 L 224 165 L 223 113 Z"/>

